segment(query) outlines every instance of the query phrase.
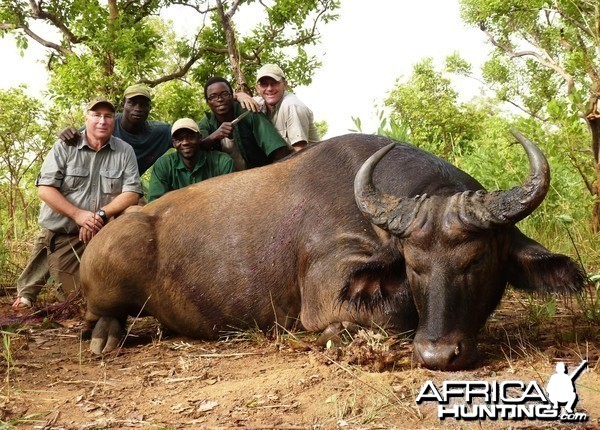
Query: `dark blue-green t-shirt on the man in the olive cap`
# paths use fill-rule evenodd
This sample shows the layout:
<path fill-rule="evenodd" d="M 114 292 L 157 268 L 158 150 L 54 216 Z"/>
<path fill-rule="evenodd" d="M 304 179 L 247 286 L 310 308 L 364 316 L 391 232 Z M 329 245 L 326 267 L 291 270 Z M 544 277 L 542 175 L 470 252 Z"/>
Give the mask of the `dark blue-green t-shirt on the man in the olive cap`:
<path fill-rule="evenodd" d="M 113 136 L 129 143 L 135 152 L 140 176 L 171 148 L 171 124 L 146 121 L 141 133 L 129 133 L 121 127 L 123 114 L 117 114 Z"/>

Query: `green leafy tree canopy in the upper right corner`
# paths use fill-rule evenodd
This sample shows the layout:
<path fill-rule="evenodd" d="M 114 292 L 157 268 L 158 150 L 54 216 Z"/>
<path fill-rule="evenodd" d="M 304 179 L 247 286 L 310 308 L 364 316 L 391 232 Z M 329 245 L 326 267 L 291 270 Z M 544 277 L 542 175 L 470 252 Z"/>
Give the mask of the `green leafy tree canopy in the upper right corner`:
<path fill-rule="evenodd" d="M 486 83 L 500 100 L 537 122 L 529 128 L 546 146 L 553 177 L 565 186 L 555 186 L 553 179 L 553 189 L 571 192 L 574 184 L 585 182 L 595 197 L 578 192 L 570 200 L 589 210 L 600 201 L 591 185 L 598 177 L 598 160 L 585 149 L 598 144 L 588 126 L 599 132 L 600 125 L 584 120 L 600 96 L 598 2 L 461 0 L 461 11 L 495 47 L 483 67 Z M 593 223 L 600 228 L 599 219 Z"/>

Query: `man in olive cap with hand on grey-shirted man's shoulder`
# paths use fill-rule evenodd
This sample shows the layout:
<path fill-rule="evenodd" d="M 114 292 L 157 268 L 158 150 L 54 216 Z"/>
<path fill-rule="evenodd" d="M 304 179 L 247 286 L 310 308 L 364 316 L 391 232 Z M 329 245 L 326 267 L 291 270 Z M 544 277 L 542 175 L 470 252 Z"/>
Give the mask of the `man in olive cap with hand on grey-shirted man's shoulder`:
<path fill-rule="evenodd" d="M 140 175 L 171 147 L 171 124 L 148 120 L 152 109 L 150 88 L 143 84 L 127 87 L 123 93 L 123 113 L 117 114 L 113 135 L 129 143 L 135 151 Z M 68 127 L 60 138 L 76 145 L 79 132 Z"/>

